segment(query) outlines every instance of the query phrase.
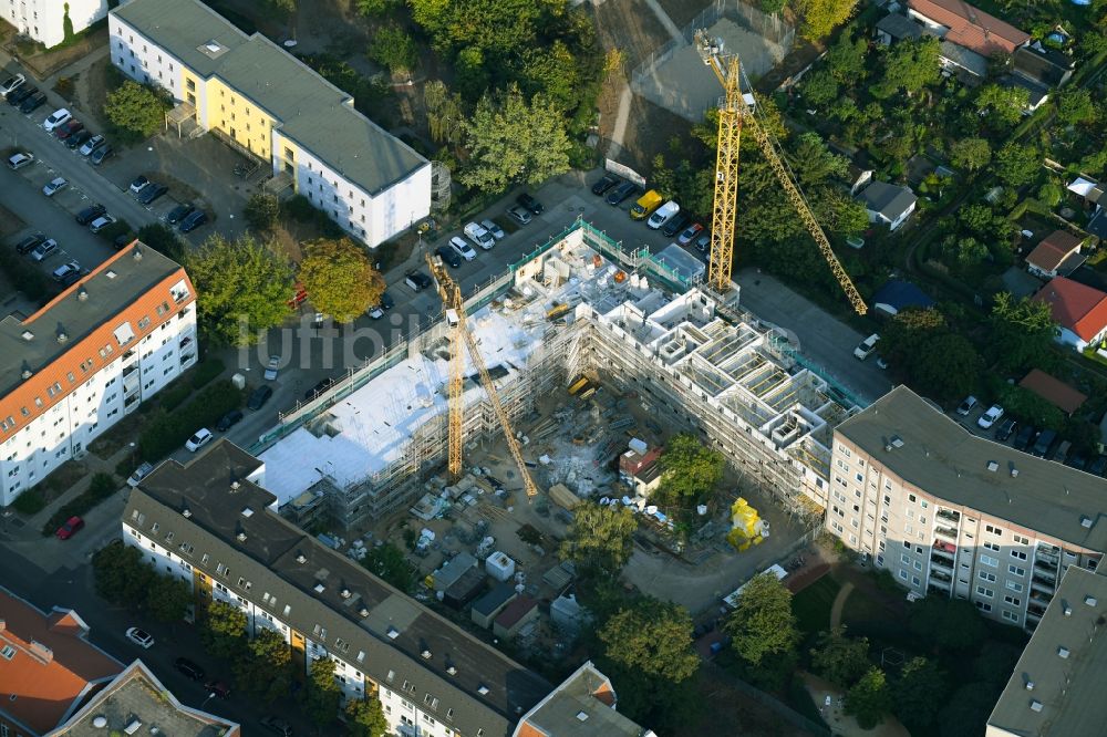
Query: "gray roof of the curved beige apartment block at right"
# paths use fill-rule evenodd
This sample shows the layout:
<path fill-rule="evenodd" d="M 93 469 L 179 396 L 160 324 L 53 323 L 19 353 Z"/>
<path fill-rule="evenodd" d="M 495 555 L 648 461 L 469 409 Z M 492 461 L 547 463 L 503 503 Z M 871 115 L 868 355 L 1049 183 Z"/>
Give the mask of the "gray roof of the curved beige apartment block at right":
<path fill-rule="evenodd" d="M 977 437 L 897 386 L 836 429 L 908 484 L 1072 546 L 1107 550 L 1107 480 Z M 896 447 L 893 437 L 902 444 Z M 887 449 L 891 446 L 891 449 Z M 995 461 L 996 470 L 987 469 Z M 1018 471 L 1011 475 L 1011 469 Z M 1084 527 L 1082 517 L 1092 525 Z"/>

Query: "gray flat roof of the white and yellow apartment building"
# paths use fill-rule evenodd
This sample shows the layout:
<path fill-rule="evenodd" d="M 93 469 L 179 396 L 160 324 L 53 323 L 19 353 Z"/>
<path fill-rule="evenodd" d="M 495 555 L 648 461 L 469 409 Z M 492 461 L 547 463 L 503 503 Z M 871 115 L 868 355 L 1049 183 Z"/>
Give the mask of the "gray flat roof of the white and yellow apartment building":
<path fill-rule="evenodd" d="M 353 98 L 260 33 L 246 35 L 198 0 L 131 0 L 112 11 L 197 74 L 218 76 L 297 142 L 371 195 L 428 166 L 353 108 Z M 217 42 L 225 51 L 210 52 Z"/>

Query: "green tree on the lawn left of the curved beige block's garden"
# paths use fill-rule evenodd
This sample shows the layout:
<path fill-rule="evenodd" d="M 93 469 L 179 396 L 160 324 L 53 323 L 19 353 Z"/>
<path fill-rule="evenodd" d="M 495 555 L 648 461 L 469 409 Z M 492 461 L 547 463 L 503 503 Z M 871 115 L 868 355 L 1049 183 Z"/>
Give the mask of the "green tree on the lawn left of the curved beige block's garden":
<path fill-rule="evenodd" d="M 723 629 L 733 639 L 734 652 L 749 665 L 794 653 L 799 631 L 792 613 L 792 592 L 772 573 L 758 573 L 742 590 Z"/>

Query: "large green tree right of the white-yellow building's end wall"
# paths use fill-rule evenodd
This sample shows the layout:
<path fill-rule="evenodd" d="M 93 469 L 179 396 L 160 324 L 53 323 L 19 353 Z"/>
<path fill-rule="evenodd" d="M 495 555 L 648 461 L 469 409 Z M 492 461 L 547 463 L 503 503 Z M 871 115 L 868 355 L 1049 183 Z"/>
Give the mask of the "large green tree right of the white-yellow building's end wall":
<path fill-rule="evenodd" d="M 495 97 L 485 94 L 464 125 L 469 162 L 458 180 L 466 186 L 503 191 L 514 183 L 537 185 L 569 170 L 565 120 L 542 94 L 529 104 L 514 84 Z"/>

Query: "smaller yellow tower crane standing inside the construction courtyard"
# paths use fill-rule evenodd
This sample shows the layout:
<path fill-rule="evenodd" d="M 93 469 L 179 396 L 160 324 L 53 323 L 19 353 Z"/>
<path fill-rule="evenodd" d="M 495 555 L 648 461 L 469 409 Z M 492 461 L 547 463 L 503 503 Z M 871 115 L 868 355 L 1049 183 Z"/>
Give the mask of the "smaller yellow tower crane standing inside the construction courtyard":
<path fill-rule="evenodd" d="M 453 277 L 446 272 L 446 267 L 443 264 L 442 259 L 433 257 L 430 253 L 426 256 L 426 263 L 431 269 L 431 276 L 434 277 L 435 286 L 438 289 L 438 295 L 442 298 L 442 303 L 446 310 L 446 320 L 451 325 L 449 335 L 449 440 L 448 440 L 448 454 L 447 454 L 447 469 L 452 478 L 456 479 L 462 473 L 462 421 L 464 419 L 464 403 L 462 402 L 462 388 L 465 380 L 465 361 L 462 354 L 462 343 L 468 349 L 469 357 L 473 359 L 473 364 L 477 367 L 477 372 L 480 374 L 480 383 L 484 385 L 485 392 L 488 394 L 488 401 L 492 402 L 493 411 L 496 413 L 496 418 L 499 421 L 499 426 L 504 428 L 504 436 L 507 438 L 507 447 L 511 451 L 511 457 L 515 458 L 515 464 L 519 467 L 519 474 L 523 477 L 523 487 L 527 492 L 528 499 L 534 499 L 538 495 L 538 487 L 535 485 L 534 479 L 530 477 L 530 469 L 527 468 L 527 463 L 523 458 L 523 449 L 519 447 L 519 442 L 515 437 L 515 430 L 511 429 L 511 421 L 507 416 L 507 412 L 504 409 L 503 403 L 499 401 L 499 393 L 496 391 L 496 385 L 492 381 L 492 375 L 488 373 L 488 367 L 485 365 L 484 357 L 480 355 L 480 349 L 477 345 L 477 341 L 473 338 L 473 333 L 469 332 L 468 325 L 465 321 L 465 300 L 462 297 L 462 287 Z"/>

